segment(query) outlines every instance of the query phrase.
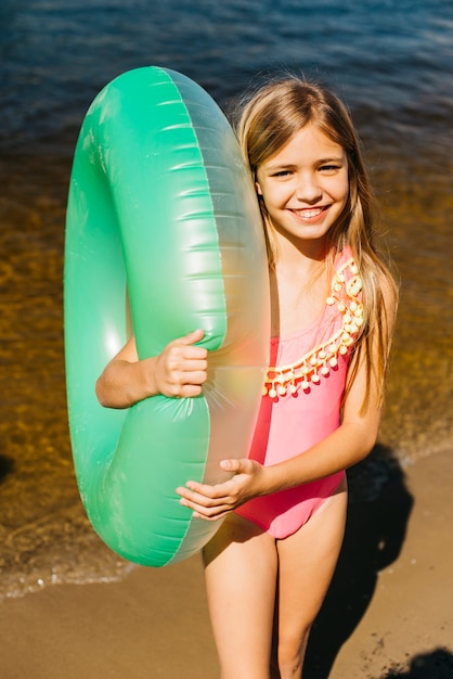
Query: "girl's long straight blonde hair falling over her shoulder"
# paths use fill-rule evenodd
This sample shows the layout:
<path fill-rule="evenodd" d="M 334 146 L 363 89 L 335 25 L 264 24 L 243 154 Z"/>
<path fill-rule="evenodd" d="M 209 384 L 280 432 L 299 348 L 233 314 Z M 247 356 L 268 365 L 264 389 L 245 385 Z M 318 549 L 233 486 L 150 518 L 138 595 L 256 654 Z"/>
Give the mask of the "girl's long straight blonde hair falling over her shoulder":
<path fill-rule="evenodd" d="M 251 92 L 240 102 L 238 111 L 236 133 L 254 181 L 258 168 L 275 155 L 295 132 L 308 124 L 315 125 L 347 154 L 349 197 L 340 217 L 328 233 L 326 264 L 327 271 L 332 271 L 337 253 L 349 246 L 363 283 L 365 322 L 355 345 L 346 394 L 359 366 L 364 361 L 366 393 L 373 379 L 381 403 L 398 289 L 390 262 L 386 261 L 377 246 L 374 193 L 351 116 L 336 94 L 321 85 L 292 75 L 270 80 Z M 274 267 L 276 252 L 272 226 L 262 196 L 258 197 L 264 223 L 269 265 Z M 366 406 L 365 397 L 362 412 Z"/>

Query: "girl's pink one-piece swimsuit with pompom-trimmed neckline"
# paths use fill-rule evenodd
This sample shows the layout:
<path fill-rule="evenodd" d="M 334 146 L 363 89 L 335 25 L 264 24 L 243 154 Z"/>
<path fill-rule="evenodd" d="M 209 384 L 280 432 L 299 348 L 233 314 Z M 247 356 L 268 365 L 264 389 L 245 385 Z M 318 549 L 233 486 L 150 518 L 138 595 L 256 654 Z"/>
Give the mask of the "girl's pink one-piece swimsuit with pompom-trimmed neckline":
<path fill-rule="evenodd" d="M 340 425 L 351 348 L 363 322 L 361 280 L 350 251 L 337 258 L 325 310 L 310 328 L 271 340 L 271 361 L 249 458 L 283 462 L 308 450 Z M 276 539 L 293 535 L 332 496 L 345 476 L 246 502 L 237 514 Z"/>

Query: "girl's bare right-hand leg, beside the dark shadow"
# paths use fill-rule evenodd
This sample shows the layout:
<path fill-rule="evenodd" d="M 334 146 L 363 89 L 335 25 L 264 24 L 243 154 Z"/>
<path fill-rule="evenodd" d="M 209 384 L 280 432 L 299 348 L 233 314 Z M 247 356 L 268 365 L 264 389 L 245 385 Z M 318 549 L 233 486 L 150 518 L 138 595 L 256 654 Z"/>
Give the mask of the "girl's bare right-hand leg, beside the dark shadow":
<path fill-rule="evenodd" d="M 279 540 L 275 679 L 299 679 L 311 626 L 331 584 L 341 549 L 346 481 L 295 535 Z"/>

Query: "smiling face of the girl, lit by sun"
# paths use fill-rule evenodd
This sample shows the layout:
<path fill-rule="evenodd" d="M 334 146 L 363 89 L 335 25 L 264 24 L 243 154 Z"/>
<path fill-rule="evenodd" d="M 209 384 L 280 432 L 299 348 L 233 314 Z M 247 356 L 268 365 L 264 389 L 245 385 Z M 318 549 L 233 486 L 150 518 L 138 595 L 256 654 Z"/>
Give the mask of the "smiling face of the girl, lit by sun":
<path fill-rule="evenodd" d="M 323 240 L 348 200 L 345 150 L 307 125 L 258 168 L 256 185 L 277 240 Z"/>

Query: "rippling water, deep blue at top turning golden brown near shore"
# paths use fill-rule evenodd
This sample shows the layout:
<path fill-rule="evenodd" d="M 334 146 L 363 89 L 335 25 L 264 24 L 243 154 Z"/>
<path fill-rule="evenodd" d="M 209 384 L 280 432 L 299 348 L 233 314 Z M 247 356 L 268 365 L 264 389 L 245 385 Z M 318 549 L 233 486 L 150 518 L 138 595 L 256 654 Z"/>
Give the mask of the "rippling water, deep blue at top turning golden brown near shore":
<path fill-rule="evenodd" d="M 0 594 L 128 567 L 91 531 L 74 479 L 62 267 L 83 115 L 107 81 L 146 64 L 185 73 L 223 107 L 284 68 L 345 99 L 402 277 L 380 441 L 401 464 L 451 447 L 451 0 L 2 0 Z"/>

